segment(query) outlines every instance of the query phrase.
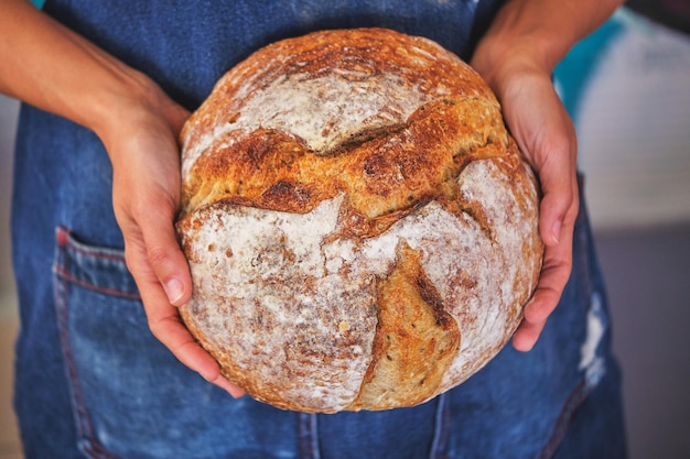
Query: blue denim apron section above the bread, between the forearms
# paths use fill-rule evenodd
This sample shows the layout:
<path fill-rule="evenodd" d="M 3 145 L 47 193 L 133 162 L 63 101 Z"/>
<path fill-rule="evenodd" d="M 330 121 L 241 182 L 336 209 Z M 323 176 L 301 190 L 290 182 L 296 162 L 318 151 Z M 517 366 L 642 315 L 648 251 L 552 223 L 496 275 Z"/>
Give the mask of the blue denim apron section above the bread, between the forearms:
<path fill-rule="evenodd" d="M 88 3 L 44 11 L 143 69 L 195 108 L 223 73 L 260 46 L 321 29 L 384 26 L 435 40 L 461 57 L 503 0 L 242 0 Z"/>

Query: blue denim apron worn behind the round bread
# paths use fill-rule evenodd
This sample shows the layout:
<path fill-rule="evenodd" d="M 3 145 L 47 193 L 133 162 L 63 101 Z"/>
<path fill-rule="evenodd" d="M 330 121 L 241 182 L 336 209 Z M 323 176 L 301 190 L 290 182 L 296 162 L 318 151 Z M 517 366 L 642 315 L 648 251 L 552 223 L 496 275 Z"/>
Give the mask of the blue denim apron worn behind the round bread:
<path fill-rule="evenodd" d="M 259 46 L 317 29 L 387 26 L 468 58 L 496 8 L 472 0 L 45 4 L 188 109 Z M 28 459 L 623 457 L 617 368 L 584 212 L 573 276 L 535 350 L 507 347 L 470 381 L 414 408 L 306 415 L 233 400 L 151 335 L 123 260 L 110 163 L 93 132 L 23 107 L 14 184 L 15 409 Z"/>

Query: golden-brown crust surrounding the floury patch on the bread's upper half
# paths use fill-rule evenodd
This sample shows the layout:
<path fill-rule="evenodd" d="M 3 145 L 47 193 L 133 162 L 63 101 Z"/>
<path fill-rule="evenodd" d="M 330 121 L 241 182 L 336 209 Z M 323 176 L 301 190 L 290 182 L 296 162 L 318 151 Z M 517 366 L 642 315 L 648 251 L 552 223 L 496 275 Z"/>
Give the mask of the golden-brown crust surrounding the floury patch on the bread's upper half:
<path fill-rule="evenodd" d="M 323 150 L 284 130 L 229 130 L 214 139 L 213 155 L 201 156 L 186 174 L 185 214 L 237 196 L 257 207 L 308 212 L 345 190 L 359 214 L 376 218 L 434 198 L 440 183 L 477 159 L 477 149 L 507 142 L 498 103 L 478 75 L 423 39 L 376 29 L 320 32 L 268 46 L 230 74 L 185 124 L 187 149 L 218 125 L 238 123 L 246 98 L 290 75 L 299 75 L 300 85 L 334 75 L 346 81 L 353 74 L 360 80 L 395 75 L 399 94 L 414 89 L 429 102 L 392 123 L 358 120 L 363 125 Z M 242 78 L 251 81 L 250 90 Z M 337 131 L 337 116 L 332 118 L 320 134 Z"/>

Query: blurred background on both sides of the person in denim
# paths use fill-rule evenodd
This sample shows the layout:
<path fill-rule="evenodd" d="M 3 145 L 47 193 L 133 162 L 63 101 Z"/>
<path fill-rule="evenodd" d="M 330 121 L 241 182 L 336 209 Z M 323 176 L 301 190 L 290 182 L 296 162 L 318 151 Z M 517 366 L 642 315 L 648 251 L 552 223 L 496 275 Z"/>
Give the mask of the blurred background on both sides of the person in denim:
<path fill-rule="evenodd" d="M 630 1 L 556 73 L 580 139 L 630 459 L 690 458 L 689 19 L 687 0 Z M 9 236 L 18 110 L 0 96 L 0 459 L 22 458 L 11 408 Z"/>

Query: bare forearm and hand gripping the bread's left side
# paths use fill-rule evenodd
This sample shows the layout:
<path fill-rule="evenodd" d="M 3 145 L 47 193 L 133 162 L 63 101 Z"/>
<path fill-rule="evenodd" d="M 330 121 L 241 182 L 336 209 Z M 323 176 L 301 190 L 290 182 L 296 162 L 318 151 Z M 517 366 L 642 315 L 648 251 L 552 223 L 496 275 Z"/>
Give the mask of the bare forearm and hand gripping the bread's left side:
<path fill-rule="evenodd" d="M 150 78 L 26 0 L 2 3 L 0 62 L 1 92 L 82 124 L 104 142 L 127 265 L 151 331 L 190 369 L 241 395 L 177 312 L 192 294 L 174 230 L 181 182 L 176 139 L 188 112 Z"/>

